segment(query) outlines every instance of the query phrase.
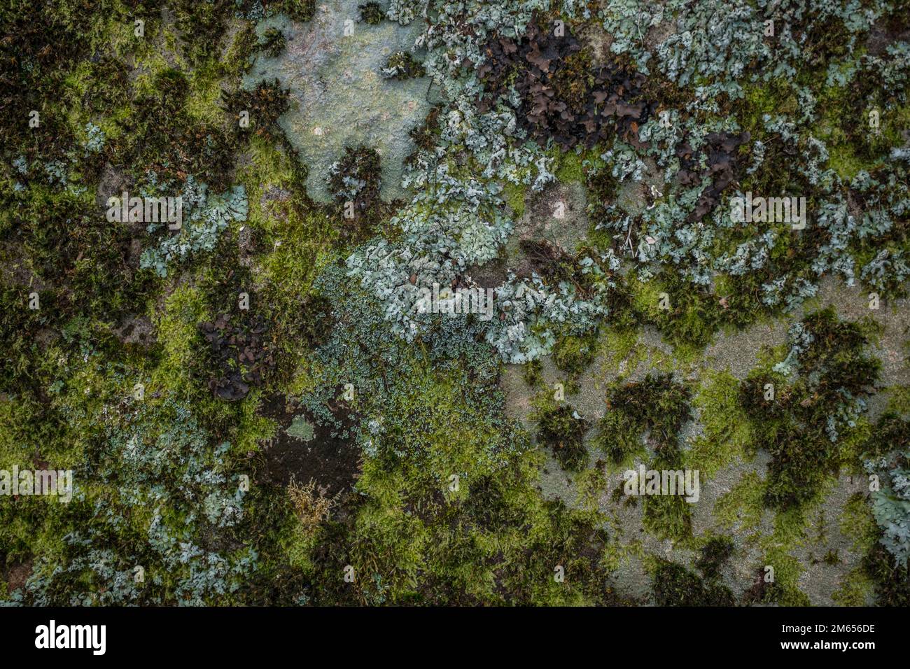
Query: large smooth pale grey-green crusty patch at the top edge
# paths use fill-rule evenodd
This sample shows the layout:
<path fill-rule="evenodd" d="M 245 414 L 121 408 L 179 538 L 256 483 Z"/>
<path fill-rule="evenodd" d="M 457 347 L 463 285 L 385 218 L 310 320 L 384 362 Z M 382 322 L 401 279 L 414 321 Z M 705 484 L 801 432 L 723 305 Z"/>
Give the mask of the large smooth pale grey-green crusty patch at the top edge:
<path fill-rule="evenodd" d="M 261 21 L 259 34 L 278 27 L 288 44 L 277 58 L 259 56 L 244 78 L 248 87 L 277 78 L 290 90 L 291 106 L 279 124 L 309 169 L 310 197 L 319 201 L 329 200 L 331 164 L 346 145 L 359 144 L 379 151 L 382 198 L 406 198 L 400 182 L 403 159 L 413 150 L 409 132 L 430 109 L 429 77 L 392 81 L 379 73 L 389 56 L 413 47 L 420 35 L 418 22 L 408 27 L 390 21 L 359 23 L 359 4 L 320 3 L 306 24 L 280 15 Z M 420 53 L 415 57 L 420 60 Z"/>

